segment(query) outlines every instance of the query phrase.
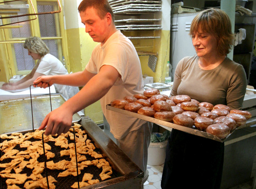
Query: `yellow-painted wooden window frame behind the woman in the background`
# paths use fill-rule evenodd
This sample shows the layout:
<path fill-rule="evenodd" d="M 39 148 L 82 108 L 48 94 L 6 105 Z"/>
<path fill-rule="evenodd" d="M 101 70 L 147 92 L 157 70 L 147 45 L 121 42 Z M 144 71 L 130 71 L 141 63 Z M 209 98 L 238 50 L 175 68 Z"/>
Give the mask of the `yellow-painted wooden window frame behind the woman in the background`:
<path fill-rule="evenodd" d="M 25 2 L 25 4 L 31 4 L 30 0 L 22 0 Z M 35 12 L 37 12 L 37 5 L 53 5 L 54 11 L 59 10 L 58 6 L 58 0 L 31 0 L 33 3 L 33 6 L 35 8 Z M 2 2 L 2 0 L 0 0 Z M 62 2 L 60 1 L 60 5 L 62 7 Z M 29 13 L 34 13 L 34 10 L 32 6 L 29 6 Z M 67 52 L 67 40 L 66 40 L 66 32 L 65 32 L 65 23 L 63 19 L 63 12 L 54 13 L 55 15 L 55 26 L 56 26 L 56 37 L 41 37 L 40 34 L 40 26 L 39 26 L 39 19 L 37 15 L 37 19 L 27 21 L 30 25 L 30 34 L 31 36 L 38 36 L 41 37 L 42 40 L 49 40 L 54 39 L 57 43 L 57 52 L 58 52 L 58 59 L 60 61 L 62 60 L 62 56 L 68 57 Z M 35 18 L 35 15 L 29 16 L 29 19 Z M 4 23 L 3 19 L 3 23 Z M 3 39 L 1 40 L 0 44 L 5 44 L 6 52 L 5 53 L 5 61 L 3 61 L 3 64 L 7 64 L 5 66 L 8 67 L 8 74 L 7 76 L 13 76 L 13 75 L 24 75 L 29 74 L 31 70 L 18 70 L 17 68 L 17 61 L 15 56 L 15 49 L 14 49 L 14 43 L 24 43 L 26 38 L 12 38 L 12 28 L 15 28 L 17 26 L 14 25 L 7 25 L 7 27 L 4 27 L 2 30 Z M 36 62 L 35 62 L 36 64 Z M 67 65 L 67 69 L 69 71 L 69 65 Z M 10 79 L 10 78 L 7 78 Z"/>

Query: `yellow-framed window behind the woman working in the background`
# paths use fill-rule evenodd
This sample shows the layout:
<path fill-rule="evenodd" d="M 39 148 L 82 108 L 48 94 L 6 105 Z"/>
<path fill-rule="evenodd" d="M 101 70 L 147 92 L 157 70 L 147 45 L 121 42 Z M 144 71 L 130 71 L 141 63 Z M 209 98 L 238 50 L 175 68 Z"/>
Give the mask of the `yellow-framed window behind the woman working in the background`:
<path fill-rule="evenodd" d="M 30 0 L 18 1 L 19 4 L 28 4 L 30 6 L 27 13 L 34 13 L 32 6 L 35 8 L 35 12 L 51 12 L 59 10 L 57 0 Z M 15 69 L 15 74 L 28 74 L 35 66 L 36 62 L 28 55 L 27 49 L 23 48 L 23 42 L 27 37 L 38 36 L 45 42 L 50 49 L 50 54 L 62 59 L 63 54 L 63 38 L 64 32 L 63 13 L 55 14 L 41 14 L 37 15 L 37 19 L 32 21 L 20 22 L 23 20 L 31 20 L 35 16 L 23 16 L 10 18 L 9 22 L 20 22 L 13 24 L 10 29 L 4 29 L 5 41 L 8 49 L 7 59 L 10 59 L 10 67 Z M 3 22 L 4 19 L 2 19 Z M 13 74 L 13 71 L 12 71 Z"/>

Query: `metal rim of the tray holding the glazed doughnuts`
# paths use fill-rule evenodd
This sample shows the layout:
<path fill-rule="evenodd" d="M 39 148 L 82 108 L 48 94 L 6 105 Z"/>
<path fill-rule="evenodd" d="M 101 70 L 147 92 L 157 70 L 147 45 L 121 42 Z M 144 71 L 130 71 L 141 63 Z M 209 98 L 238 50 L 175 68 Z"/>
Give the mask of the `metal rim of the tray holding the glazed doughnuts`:
<path fill-rule="evenodd" d="M 129 115 L 129 116 L 132 116 L 132 117 L 135 117 L 135 118 L 139 118 L 139 119 L 146 120 L 146 121 L 149 121 L 149 122 L 152 122 L 152 123 L 156 123 L 159 126 L 164 126 L 164 127 L 168 127 L 168 128 L 172 128 L 172 129 L 176 129 L 176 130 L 181 130 L 181 131 L 184 131 L 186 133 L 190 133 L 192 135 L 197 135 L 197 136 L 200 136 L 200 137 L 209 138 L 211 140 L 216 140 L 216 141 L 219 141 L 219 142 L 224 142 L 232 133 L 234 133 L 234 131 L 239 130 L 241 128 L 248 127 L 248 126 L 251 125 L 251 123 L 250 124 L 246 123 L 244 126 L 240 126 L 236 129 L 232 130 L 232 132 L 227 137 L 225 137 L 224 139 L 220 139 L 219 137 L 216 137 L 215 135 L 206 133 L 206 132 L 198 130 L 198 129 L 187 128 L 187 127 L 184 127 L 184 126 L 181 126 L 181 125 L 176 125 L 174 123 L 159 120 L 159 119 L 152 118 L 152 117 L 149 117 L 149 116 L 146 116 L 146 115 L 141 115 L 139 113 L 130 112 L 130 111 L 123 110 L 123 109 L 120 109 L 120 108 L 114 108 L 114 107 L 110 106 L 110 104 L 108 104 L 106 106 L 106 108 L 107 108 L 107 110 L 112 110 L 112 111 L 115 111 L 115 112 L 118 112 L 118 113 L 122 113 L 122 114 Z"/>

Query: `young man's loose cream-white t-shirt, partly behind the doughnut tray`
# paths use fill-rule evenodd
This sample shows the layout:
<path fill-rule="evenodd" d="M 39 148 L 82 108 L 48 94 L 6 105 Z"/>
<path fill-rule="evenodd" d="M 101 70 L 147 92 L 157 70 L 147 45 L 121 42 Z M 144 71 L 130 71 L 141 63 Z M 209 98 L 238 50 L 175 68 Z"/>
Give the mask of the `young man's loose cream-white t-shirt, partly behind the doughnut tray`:
<path fill-rule="evenodd" d="M 97 74 L 103 65 L 113 66 L 121 75 L 121 79 L 118 79 L 100 99 L 100 103 L 111 133 L 115 138 L 122 139 L 130 131 L 139 129 L 146 121 L 106 109 L 106 105 L 114 99 L 133 96 L 144 91 L 142 69 L 136 49 L 119 30 L 112 34 L 102 47 L 98 44 L 93 49 L 85 69 Z"/>

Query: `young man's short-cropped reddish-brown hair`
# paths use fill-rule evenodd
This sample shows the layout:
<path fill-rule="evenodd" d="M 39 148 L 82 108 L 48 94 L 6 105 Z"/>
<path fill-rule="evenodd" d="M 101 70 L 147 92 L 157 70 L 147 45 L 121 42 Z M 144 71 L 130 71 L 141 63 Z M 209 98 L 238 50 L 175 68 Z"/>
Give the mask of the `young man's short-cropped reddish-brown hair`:
<path fill-rule="evenodd" d="M 88 7 L 93 7 L 96 9 L 100 19 L 103 19 L 104 16 L 109 12 L 114 23 L 114 13 L 112 7 L 109 5 L 108 0 L 82 0 L 78 6 L 78 12 L 85 12 Z"/>

